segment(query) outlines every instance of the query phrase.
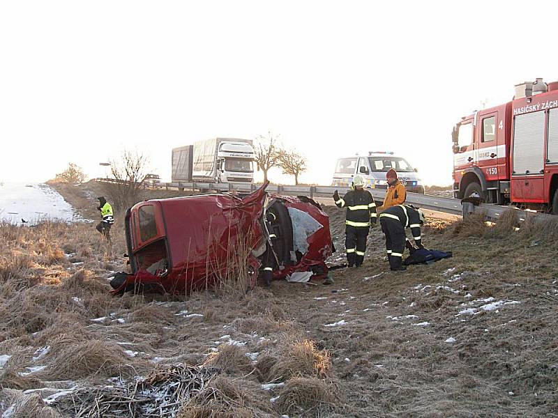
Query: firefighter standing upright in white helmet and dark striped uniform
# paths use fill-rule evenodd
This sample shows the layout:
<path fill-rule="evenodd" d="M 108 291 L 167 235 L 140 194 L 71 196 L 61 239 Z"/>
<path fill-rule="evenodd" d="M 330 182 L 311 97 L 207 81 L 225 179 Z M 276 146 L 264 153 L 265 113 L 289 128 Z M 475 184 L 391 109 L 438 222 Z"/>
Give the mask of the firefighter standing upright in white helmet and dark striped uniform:
<path fill-rule="evenodd" d="M 338 208 L 347 208 L 345 220 L 345 248 L 347 249 L 347 264 L 349 267 L 360 267 L 364 261 L 366 238 L 370 231 L 370 224 L 376 224 L 376 203 L 372 194 L 363 189 L 362 176 L 354 176 L 352 190 L 342 198 L 335 190 L 333 199 Z"/>

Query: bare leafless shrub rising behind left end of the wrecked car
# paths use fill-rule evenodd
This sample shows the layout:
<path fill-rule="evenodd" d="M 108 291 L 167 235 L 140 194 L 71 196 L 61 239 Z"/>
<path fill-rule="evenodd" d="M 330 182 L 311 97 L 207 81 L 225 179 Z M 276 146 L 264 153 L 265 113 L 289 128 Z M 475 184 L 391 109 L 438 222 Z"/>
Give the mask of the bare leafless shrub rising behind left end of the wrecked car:
<path fill-rule="evenodd" d="M 119 160 L 110 161 L 114 183 L 104 189 L 116 210 L 124 210 L 141 200 L 144 178 L 149 171 L 146 155 L 137 150 L 124 150 Z"/>

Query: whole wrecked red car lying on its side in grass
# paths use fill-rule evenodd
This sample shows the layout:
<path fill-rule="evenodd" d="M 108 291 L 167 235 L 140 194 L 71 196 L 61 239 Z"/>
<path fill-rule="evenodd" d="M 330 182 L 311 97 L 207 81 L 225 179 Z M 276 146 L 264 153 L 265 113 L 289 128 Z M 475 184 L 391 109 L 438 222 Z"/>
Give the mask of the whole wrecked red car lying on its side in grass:
<path fill-rule="evenodd" d="M 142 201 L 128 209 L 131 273 L 114 277 L 112 293 L 189 293 L 213 286 L 239 260 L 252 286 L 265 270 L 273 279 L 327 274 L 325 260 L 334 251 L 329 217 L 307 197 L 269 195 L 267 184 L 243 198 L 206 194 Z"/>

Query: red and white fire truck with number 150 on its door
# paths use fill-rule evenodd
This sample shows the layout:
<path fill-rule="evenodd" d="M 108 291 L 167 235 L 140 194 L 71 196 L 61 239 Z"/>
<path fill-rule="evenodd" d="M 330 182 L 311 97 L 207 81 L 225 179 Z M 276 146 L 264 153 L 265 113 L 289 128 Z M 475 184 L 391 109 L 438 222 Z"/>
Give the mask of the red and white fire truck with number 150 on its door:
<path fill-rule="evenodd" d="M 456 199 L 558 214 L 558 82 L 518 84 L 511 102 L 463 117 L 452 139 Z"/>

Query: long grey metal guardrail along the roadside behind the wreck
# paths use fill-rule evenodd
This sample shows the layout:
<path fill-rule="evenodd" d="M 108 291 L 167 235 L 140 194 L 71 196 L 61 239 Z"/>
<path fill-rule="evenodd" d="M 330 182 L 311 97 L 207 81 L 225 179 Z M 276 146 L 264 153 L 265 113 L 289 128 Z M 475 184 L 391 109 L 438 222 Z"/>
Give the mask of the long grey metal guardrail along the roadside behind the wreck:
<path fill-rule="evenodd" d="M 94 179 L 101 183 L 118 183 L 117 180 L 111 178 L 96 178 Z M 232 192 L 233 190 L 238 193 L 250 193 L 255 191 L 261 184 L 256 183 L 158 183 L 158 188 L 164 189 L 183 189 L 183 190 L 216 190 L 218 192 Z M 290 185 L 268 185 L 268 192 L 273 194 L 284 194 L 286 196 L 308 196 L 311 199 L 315 197 L 331 198 L 333 192 L 337 190 L 339 194 L 343 195 L 349 191 L 349 187 L 333 187 L 333 186 L 290 186 Z M 383 201 L 386 197 L 385 189 L 368 189 L 375 199 Z M 407 192 L 407 199 L 405 203 L 414 205 L 418 208 L 429 210 L 436 210 L 438 212 L 450 213 L 452 215 L 469 215 L 473 212 L 482 212 L 490 219 L 499 219 L 507 210 L 515 210 L 516 215 L 520 222 L 527 219 L 535 219 L 536 221 L 558 219 L 555 215 L 548 215 L 541 212 L 532 212 L 530 210 L 520 210 L 513 206 L 498 206 L 486 203 L 481 203 L 474 206 L 472 203 L 464 205 L 458 199 L 451 199 L 448 197 L 431 196 L 429 194 L 410 193 Z"/>

